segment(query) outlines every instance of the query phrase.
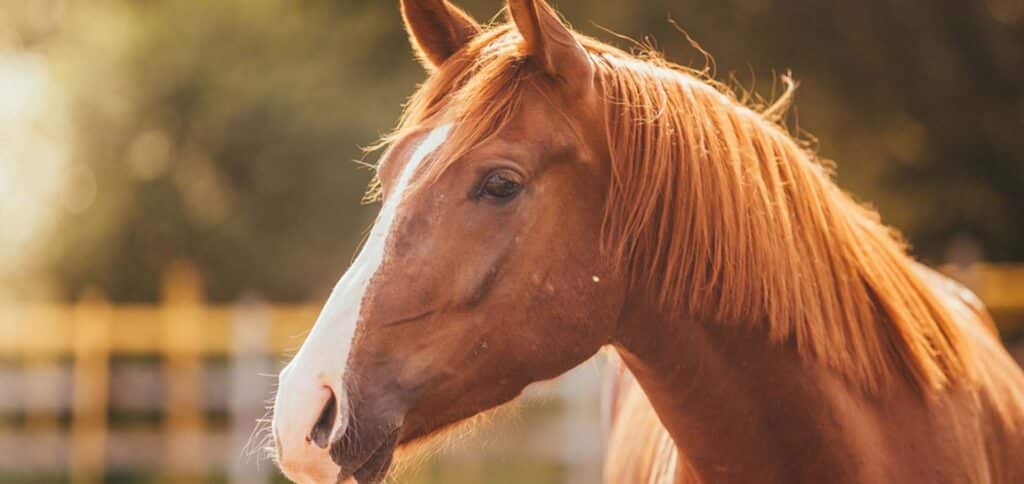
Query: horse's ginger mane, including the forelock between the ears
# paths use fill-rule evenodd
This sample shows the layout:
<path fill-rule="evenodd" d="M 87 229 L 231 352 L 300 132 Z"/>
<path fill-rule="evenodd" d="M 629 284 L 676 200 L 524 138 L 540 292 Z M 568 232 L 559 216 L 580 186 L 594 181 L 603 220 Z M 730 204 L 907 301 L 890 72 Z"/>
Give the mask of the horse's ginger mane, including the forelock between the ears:
<path fill-rule="evenodd" d="M 923 391 L 968 380 L 967 337 L 901 237 L 776 123 L 792 90 L 757 111 L 699 72 L 578 38 L 605 97 L 604 248 L 635 285 L 691 320 L 764 324 L 867 391 L 899 376 Z M 430 179 L 484 142 L 541 75 L 520 44 L 514 27 L 487 28 L 381 145 L 454 119 Z"/>

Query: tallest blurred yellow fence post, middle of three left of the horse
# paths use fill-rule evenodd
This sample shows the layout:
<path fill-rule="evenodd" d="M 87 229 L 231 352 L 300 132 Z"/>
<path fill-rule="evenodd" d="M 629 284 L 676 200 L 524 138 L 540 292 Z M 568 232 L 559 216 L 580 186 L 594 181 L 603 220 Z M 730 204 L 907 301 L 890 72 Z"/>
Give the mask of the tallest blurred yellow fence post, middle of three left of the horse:
<path fill-rule="evenodd" d="M 164 274 L 163 325 L 165 470 L 175 478 L 206 472 L 203 386 L 203 282 L 188 262 L 174 262 Z"/>

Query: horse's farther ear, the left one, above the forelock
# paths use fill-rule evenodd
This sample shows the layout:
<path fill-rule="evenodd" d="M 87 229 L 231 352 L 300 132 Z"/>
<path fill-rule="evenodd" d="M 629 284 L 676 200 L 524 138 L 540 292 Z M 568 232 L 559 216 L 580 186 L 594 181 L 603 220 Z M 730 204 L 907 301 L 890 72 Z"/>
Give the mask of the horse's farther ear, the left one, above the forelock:
<path fill-rule="evenodd" d="M 428 71 L 433 71 L 480 32 L 468 13 L 447 0 L 401 0 L 409 40 Z"/>

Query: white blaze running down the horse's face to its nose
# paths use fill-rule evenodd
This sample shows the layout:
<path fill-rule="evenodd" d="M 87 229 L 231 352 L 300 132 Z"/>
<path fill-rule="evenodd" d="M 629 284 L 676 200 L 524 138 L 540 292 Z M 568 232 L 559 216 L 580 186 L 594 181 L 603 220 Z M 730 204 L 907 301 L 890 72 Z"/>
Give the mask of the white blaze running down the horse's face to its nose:
<path fill-rule="evenodd" d="M 298 454 L 301 453 L 308 454 L 309 458 L 328 459 L 329 464 L 334 465 L 330 461 L 327 450 L 313 447 L 306 441 L 306 436 L 330 398 L 326 389 L 328 387 L 338 398 L 338 419 L 334 435 L 342 435 L 345 431 L 348 424 L 348 399 L 342 376 L 367 287 L 384 261 L 384 249 L 406 188 L 423 161 L 447 138 L 450 128 L 451 125 L 438 127 L 420 141 L 402 168 L 391 195 L 384 201 L 358 257 L 331 292 L 331 297 L 321 310 L 316 323 L 298 354 L 282 370 L 272 426 L 282 447 L 279 454 L 283 460 L 298 460 L 301 458 Z M 307 447 L 307 451 L 301 451 Z M 287 468 L 288 464 L 282 461 L 282 468 Z M 295 464 L 298 469 L 323 466 L 313 463 Z M 287 473 L 287 469 L 285 470 Z"/>

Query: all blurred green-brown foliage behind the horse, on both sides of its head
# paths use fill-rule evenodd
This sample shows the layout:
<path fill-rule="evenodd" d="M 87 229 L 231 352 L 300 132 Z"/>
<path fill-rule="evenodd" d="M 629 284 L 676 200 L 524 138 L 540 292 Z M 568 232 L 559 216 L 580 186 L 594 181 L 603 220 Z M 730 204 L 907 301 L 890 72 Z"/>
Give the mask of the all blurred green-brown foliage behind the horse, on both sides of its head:
<path fill-rule="evenodd" d="M 483 19 L 500 5 L 459 3 Z M 919 255 L 938 261 L 968 236 L 987 258 L 1024 259 L 1021 2 L 639 3 L 556 2 L 584 33 L 702 65 L 674 18 L 719 79 L 766 97 L 792 69 L 791 124 Z M 376 211 L 358 205 L 370 173 L 350 161 L 424 78 L 396 4 L 69 5 L 51 57 L 74 99 L 75 163 L 98 183 L 53 241 L 69 292 L 152 300 L 162 269 L 188 258 L 215 299 L 325 295 Z"/>

